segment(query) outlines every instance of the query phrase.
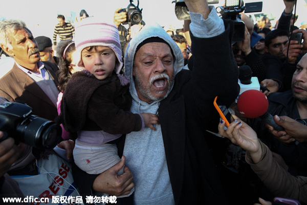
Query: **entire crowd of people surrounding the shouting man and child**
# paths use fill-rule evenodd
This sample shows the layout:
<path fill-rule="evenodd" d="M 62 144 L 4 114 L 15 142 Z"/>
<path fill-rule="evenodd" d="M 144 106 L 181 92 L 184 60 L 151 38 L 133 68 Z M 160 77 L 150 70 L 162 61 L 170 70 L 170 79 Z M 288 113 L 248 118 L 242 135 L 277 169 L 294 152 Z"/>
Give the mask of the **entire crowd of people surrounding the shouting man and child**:
<path fill-rule="evenodd" d="M 73 26 L 58 15 L 53 42 L 34 37 L 23 20 L 0 22 L 1 49 L 15 61 L 0 79 L 0 103 L 27 104 L 62 130 L 59 144 L 45 149 L 20 139 L 27 130 L 0 128 L 1 202 L 31 195 L 85 204 L 103 203 L 89 196 L 142 205 L 265 205 L 274 197 L 307 204 L 307 31 L 294 26 L 295 1 L 283 2 L 275 28 L 266 16 L 254 25 L 241 13 L 244 39 L 236 42 L 233 20 L 206 0 L 185 0 L 191 19 L 171 32 L 144 22 L 127 30 L 120 8 L 114 22 L 81 10 Z M 263 86 L 267 112 L 283 130 L 237 110 L 241 66 Z M 228 127 L 216 96 L 232 108 Z"/>

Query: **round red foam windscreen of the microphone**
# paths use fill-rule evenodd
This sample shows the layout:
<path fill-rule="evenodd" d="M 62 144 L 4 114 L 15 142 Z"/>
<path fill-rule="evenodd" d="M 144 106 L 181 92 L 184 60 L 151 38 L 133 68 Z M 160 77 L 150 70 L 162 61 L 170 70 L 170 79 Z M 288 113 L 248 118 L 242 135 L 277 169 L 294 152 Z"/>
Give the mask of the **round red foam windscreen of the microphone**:
<path fill-rule="evenodd" d="M 238 111 L 248 118 L 264 115 L 268 107 L 267 96 L 258 90 L 247 90 L 240 94 L 237 100 Z"/>

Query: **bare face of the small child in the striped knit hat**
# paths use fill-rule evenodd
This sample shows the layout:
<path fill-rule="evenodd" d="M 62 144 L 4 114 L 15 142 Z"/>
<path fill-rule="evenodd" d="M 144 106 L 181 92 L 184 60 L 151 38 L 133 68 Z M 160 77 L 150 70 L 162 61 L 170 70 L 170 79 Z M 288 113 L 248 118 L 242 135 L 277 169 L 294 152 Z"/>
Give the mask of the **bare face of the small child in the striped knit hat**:
<path fill-rule="evenodd" d="M 111 76 L 116 64 L 114 51 L 106 46 L 96 46 L 91 50 L 84 48 L 81 58 L 85 69 L 100 80 Z"/>

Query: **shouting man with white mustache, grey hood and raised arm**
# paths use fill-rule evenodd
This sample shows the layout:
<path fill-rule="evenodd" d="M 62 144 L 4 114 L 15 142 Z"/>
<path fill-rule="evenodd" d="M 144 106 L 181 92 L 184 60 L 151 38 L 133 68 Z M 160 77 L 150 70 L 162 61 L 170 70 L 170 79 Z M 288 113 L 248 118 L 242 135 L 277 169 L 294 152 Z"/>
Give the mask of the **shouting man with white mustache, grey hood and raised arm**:
<path fill-rule="evenodd" d="M 183 70 L 182 52 L 161 26 L 144 26 L 125 54 L 133 97 L 130 111 L 156 113 L 160 125 L 155 126 L 157 131 L 145 128 L 122 138 L 118 150 L 125 157 L 102 174 L 84 177 L 79 170 L 75 175 L 79 188 L 119 196 L 135 184 L 134 204 L 228 203 L 205 130 L 217 116 L 214 97 L 229 106 L 238 94 L 238 69 L 231 52 L 233 25 L 224 24 L 205 0 L 185 3 L 192 19 L 192 71 Z M 117 176 L 124 163 L 125 173 Z"/>

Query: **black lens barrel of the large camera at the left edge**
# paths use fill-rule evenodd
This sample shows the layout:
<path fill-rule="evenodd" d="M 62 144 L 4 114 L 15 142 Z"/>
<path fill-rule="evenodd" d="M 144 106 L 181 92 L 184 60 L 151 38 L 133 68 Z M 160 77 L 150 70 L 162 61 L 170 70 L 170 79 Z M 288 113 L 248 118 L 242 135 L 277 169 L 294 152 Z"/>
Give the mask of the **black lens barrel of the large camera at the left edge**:
<path fill-rule="evenodd" d="M 54 148 L 61 136 L 61 127 L 54 122 L 34 115 L 27 117 L 16 127 L 20 141 L 36 148 Z"/>

